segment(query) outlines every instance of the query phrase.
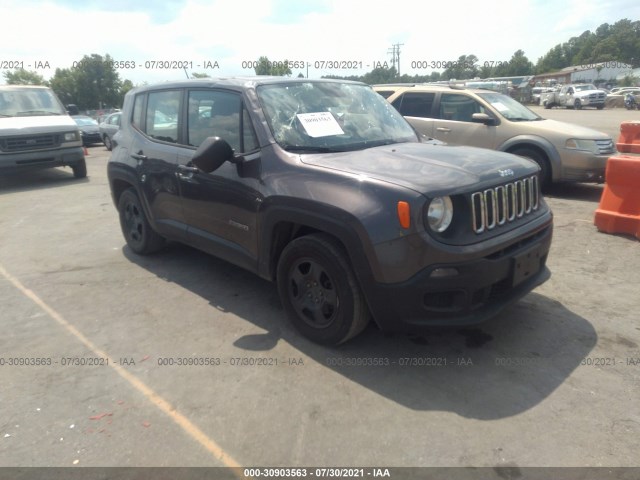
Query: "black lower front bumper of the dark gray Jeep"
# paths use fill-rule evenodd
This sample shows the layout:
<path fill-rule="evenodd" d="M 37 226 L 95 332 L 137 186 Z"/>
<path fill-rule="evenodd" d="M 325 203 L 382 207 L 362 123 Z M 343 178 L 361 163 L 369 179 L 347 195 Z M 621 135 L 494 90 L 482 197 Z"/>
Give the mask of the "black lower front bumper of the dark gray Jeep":
<path fill-rule="evenodd" d="M 383 331 L 480 323 L 550 277 L 546 260 L 551 237 L 549 223 L 486 257 L 432 265 L 402 283 L 369 285 L 372 315 Z M 433 275 L 437 269 L 458 273 L 438 277 Z"/>

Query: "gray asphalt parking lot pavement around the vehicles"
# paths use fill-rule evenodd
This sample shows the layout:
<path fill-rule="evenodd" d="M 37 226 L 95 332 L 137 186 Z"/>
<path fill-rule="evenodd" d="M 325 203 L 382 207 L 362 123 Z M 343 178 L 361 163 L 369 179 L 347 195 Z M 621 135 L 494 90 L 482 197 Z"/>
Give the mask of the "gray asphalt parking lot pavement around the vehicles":
<path fill-rule="evenodd" d="M 250 273 L 134 255 L 89 151 L 0 177 L 0 466 L 638 465 L 640 245 L 595 229 L 601 185 L 549 192 L 552 278 L 498 317 L 326 348 Z"/>

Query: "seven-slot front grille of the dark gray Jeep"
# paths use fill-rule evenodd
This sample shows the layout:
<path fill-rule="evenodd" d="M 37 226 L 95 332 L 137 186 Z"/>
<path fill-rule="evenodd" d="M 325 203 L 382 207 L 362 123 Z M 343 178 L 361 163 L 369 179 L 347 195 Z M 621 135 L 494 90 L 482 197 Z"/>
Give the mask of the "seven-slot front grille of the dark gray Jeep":
<path fill-rule="evenodd" d="M 493 230 L 529 215 L 539 206 L 538 177 L 471 194 L 472 228 L 475 233 Z"/>

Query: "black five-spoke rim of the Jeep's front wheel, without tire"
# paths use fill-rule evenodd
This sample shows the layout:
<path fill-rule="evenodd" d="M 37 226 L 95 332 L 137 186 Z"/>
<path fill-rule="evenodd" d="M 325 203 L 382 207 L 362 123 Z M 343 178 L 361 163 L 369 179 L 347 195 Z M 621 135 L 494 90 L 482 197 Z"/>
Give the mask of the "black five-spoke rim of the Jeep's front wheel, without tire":
<path fill-rule="evenodd" d="M 312 258 L 297 260 L 289 272 L 289 299 L 298 317 L 313 328 L 326 328 L 338 313 L 333 279 Z"/>

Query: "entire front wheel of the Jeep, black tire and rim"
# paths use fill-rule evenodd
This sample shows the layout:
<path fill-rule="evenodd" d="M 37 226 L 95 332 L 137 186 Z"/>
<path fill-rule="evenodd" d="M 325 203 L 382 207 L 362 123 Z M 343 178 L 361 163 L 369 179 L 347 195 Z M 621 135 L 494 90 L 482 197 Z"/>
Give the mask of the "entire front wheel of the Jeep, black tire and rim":
<path fill-rule="evenodd" d="M 369 323 L 369 308 L 347 255 L 329 235 L 289 243 L 278 262 L 277 283 L 291 322 L 316 343 L 346 342 Z"/>

